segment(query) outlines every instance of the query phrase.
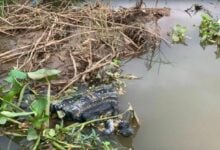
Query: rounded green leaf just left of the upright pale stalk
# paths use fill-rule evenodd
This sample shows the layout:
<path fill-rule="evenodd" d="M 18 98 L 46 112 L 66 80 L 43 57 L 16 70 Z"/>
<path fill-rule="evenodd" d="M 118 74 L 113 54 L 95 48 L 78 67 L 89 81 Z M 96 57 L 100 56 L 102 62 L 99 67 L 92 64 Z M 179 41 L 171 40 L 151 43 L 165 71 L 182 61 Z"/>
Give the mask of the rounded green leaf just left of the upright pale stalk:
<path fill-rule="evenodd" d="M 47 106 L 47 99 L 45 97 L 41 97 L 40 99 L 35 100 L 31 104 L 31 110 L 34 112 L 35 116 L 41 116 L 45 111 Z"/>

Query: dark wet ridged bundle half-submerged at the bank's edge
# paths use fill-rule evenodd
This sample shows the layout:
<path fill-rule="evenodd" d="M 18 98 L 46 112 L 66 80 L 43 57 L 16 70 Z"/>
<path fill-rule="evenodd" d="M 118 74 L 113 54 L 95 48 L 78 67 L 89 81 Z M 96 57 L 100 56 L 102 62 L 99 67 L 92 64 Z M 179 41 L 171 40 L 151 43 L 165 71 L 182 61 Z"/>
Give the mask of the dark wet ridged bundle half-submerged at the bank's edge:
<path fill-rule="evenodd" d="M 94 91 L 76 95 L 51 104 L 51 112 L 63 111 L 65 118 L 83 122 L 101 115 L 118 113 L 118 96 L 111 85 L 103 85 Z"/>

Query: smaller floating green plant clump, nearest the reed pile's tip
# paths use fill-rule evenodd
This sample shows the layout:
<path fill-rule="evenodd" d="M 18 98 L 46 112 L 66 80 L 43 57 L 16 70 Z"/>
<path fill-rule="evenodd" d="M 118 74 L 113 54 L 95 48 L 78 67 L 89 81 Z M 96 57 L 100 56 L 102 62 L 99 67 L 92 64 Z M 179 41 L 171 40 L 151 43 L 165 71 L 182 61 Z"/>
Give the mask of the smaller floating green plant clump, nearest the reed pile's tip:
<path fill-rule="evenodd" d="M 185 33 L 187 31 L 187 28 L 184 26 L 181 26 L 177 24 L 172 29 L 171 38 L 173 43 L 184 43 L 185 42 Z"/>

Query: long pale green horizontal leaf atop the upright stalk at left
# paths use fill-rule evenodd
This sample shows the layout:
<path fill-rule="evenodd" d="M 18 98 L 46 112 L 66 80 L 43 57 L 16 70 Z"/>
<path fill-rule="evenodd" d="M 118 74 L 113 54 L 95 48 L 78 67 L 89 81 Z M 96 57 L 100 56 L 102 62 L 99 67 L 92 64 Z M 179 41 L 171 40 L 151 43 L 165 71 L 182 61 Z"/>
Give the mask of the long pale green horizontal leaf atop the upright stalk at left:
<path fill-rule="evenodd" d="M 40 69 L 35 72 L 28 72 L 28 77 L 33 80 L 45 79 L 47 77 L 55 76 L 60 73 L 59 70 L 56 69 Z"/>

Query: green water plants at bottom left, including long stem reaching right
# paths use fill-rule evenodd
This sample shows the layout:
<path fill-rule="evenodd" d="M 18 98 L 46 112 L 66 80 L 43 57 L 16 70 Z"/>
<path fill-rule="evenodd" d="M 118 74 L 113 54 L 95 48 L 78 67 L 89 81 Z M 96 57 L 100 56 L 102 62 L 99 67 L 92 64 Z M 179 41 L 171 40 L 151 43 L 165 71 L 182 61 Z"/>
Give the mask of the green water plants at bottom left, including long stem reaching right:
<path fill-rule="evenodd" d="M 138 120 L 132 107 L 125 112 L 116 115 L 89 120 L 83 123 L 73 123 L 64 126 L 63 120 L 56 125 L 51 125 L 50 100 L 51 84 L 50 81 L 60 73 L 55 69 L 40 69 L 34 72 L 22 72 L 13 69 L 5 79 L 5 86 L 0 88 L 0 127 L 6 127 L 7 131 L 1 131 L 4 135 L 26 137 L 28 141 L 34 141 L 31 149 L 38 149 L 46 146 L 44 143 L 51 145 L 56 149 L 111 149 L 111 143 L 102 141 L 99 135 L 92 128 L 86 126 L 95 122 L 106 121 L 122 117 L 126 112 L 133 112 L 135 120 Z M 33 90 L 33 82 L 47 85 L 46 96 L 39 94 L 38 90 Z M 10 88 L 7 89 L 7 87 Z M 26 91 L 33 93 L 33 99 L 30 99 L 30 105 L 25 108 L 22 103 L 27 100 Z M 29 93 L 28 93 L 29 94 Z M 25 102 L 26 103 L 26 102 Z M 22 106 L 22 107 L 21 107 Z M 84 132 L 84 129 L 87 132 Z M 14 131 L 15 129 L 15 131 Z M 43 148 L 44 149 L 44 148 Z"/>

